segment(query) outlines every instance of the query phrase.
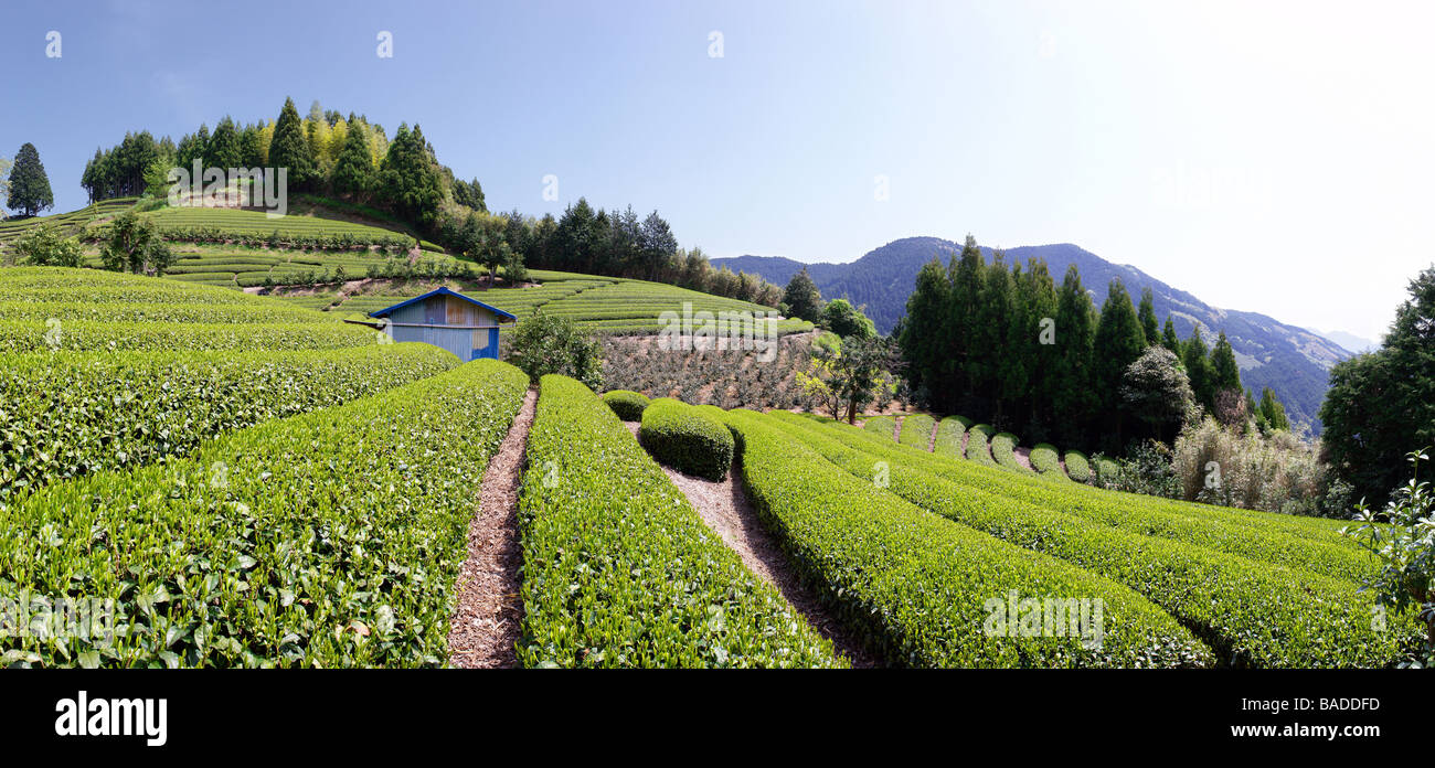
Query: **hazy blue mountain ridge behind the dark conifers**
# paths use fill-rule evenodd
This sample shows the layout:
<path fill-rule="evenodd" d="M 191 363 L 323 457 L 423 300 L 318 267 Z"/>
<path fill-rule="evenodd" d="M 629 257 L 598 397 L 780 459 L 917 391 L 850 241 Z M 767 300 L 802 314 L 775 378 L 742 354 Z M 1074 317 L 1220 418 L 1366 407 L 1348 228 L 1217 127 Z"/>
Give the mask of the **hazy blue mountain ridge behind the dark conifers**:
<path fill-rule="evenodd" d="M 943 264 L 960 253 L 961 245 L 938 237 L 907 237 L 894 240 L 867 256 L 847 264 L 805 264 L 824 299 L 847 297 L 852 303 L 867 304 L 867 314 L 883 333 L 891 332 L 897 320 L 905 314 L 907 296 L 911 294 L 917 270 L 931 260 Z M 992 248 L 983 247 L 987 261 Z M 1141 300 L 1142 289 L 1149 287 L 1155 300 L 1157 317 L 1165 322 L 1167 314 L 1175 320 L 1177 333 L 1185 339 L 1191 329 L 1201 326 L 1201 336 L 1213 343 L 1218 332 L 1225 332 L 1241 366 L 1241 382 L 1257 395 L 1263 386 L 1271 388 L 1286 403 L 1293 422 L 1304 422 L 1316 434 L 1320 432 L 1320 402 L 1325 399 L 1330 367 L 1352 356 L 1352 352 L 1327 336 L 1306 329 L 1284 324 L 1273 317 L 1254 312 L 1224 310 L 1213 307 L 1195 296 L 1171 287 L 1149 274 L 1128 264 L 1112 264 L 1099 256 L 1069 243 L 1055 245 L 1025 245 L 1006 248 L 1006 260 L 1026 263 L 1027 258 L 1042 258 L 1058 284 L 1068 264 L 1081 270 L 1082 284 L 1101 307 L 1106 299 L 1106 286 L 1114 277 L 1121 277 L 1131 293 L 1132 301 Z M 801 261 L 782 257 L 739 256 L 735 258 L 713 258 L 713 267 L 728 267 L 733 271 L 749 271 L 769 281 L 786 284 L 804 267 Z"/>

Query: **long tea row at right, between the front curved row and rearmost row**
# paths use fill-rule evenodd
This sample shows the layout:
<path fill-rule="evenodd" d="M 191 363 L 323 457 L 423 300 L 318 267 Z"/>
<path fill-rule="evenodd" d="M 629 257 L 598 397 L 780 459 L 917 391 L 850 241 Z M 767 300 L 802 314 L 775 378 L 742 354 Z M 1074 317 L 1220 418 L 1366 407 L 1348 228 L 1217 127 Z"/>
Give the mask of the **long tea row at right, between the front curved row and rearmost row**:
<path fill-rule="evenodd" d="M 782 421 L 792 439 L 852 475 L 864 477 L 874 461 L 888 462 L 893 492 L 921 508 L 1132 587 L 1192 627 L 1224 663 L 1392 666 L 1419 643 L 1419 627 L 1409 616 L 1392 620 L 1389 632 L 1378 630 L 1370 619 L 1373 597 L 1352 581 L 1114 528 L 931 471 L 938 467 L 936 462 L 959 472 L 980 471 L 969 464 L 887 448 L 855 432 L 848 432 L 850 441 L 841 441 L 831 426 L 806 419 Z M 1125 512 L 1135 518 L 1134 525 L 1147 524 L 1138 512 Z"/>

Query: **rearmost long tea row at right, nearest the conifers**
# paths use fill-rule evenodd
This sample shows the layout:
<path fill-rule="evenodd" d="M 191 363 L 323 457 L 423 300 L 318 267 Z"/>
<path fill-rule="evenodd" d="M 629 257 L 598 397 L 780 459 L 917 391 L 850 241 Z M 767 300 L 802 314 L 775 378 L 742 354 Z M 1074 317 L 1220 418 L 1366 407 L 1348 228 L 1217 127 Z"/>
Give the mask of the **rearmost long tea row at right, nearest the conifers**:
<path fill-rule="evenodd" d="M 1083 485 L 1033 484 L 1010 472 L 994 472 L 885 445 L 855 429 L 827 426 L 829 436 L 865 452 L 910 462 L 944 479 L 1036 504 L 1141 535 L 1155 535 L 1260 563 L 1303 568 L 1359 583 L 1375 561 L 1359 545 L 1304 518 L 1261 512 L 1250 517 L 1224 507 L 1197 507 L 1141 494 L 1118 494 Z"/>

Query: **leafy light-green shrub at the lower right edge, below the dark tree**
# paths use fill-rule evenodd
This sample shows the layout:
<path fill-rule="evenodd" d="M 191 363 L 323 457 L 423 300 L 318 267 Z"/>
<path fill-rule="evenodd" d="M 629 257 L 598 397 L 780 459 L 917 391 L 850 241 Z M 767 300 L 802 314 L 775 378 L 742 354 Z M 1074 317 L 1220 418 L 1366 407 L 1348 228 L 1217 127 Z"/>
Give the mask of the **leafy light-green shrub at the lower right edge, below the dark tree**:
<path fill-rule="evenodd" d="M 1389 525 L 1376 523 L 1376 511 L 1358 505 L 1356 523 L 1343 533 L 1369 550 L 1380 564 L 1365 586 L 1376 604 L 1396 614 L 1412 612 L 1426 629 L 1425 653 L 1415 666 L 1435 665 L 1435 495 L 1431 484 L 1419 482 L 1425 451 L 1409 455 L 1411 481 L 1398 488 L 1380 511 Z"/>

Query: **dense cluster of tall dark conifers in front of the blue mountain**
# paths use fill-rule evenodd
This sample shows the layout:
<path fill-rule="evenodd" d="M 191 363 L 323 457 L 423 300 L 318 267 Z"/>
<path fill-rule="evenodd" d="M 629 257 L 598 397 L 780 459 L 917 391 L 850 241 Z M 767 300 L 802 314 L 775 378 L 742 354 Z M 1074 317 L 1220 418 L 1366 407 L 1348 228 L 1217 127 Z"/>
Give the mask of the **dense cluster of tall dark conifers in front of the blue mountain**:
<path fill-rule="evenodd" d="M 893 336 L 914 399 L 1030 444 L 1116 452 L 1128 439 L 1170 439 L 1194 416 L 1182 398 L 1225 423 L 1258 412 L 1224 333 L 1214 347 L 1200 326 L 1178 339 L 1149 290 L 1138 306 L 1119 278 L 1098 310 L 1075 264 L 1058 286 L 1038 258 L 1007 266 L 997 251 L 987 264 L 970 235 L 950 264 L 923 266 Z M 1279 401 L 1261 399 L 1274 421 Z"/>

